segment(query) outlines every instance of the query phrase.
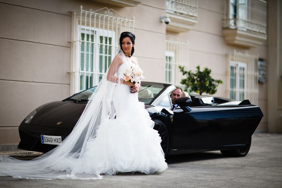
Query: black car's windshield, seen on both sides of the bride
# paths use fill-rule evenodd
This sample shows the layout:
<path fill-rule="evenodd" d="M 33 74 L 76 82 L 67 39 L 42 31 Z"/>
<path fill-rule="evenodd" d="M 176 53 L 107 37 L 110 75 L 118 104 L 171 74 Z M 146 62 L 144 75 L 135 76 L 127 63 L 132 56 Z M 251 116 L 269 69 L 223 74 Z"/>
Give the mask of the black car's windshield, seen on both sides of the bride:
<path fill-rule="evenodd" d="M 163 90 L 165 90 L 165 88 L 167 88 L 168 86 L 170 85 L 161 83 L 141 82 L 141 87 L 138 92 L 138 100 L 140 102 L 144 102 L 145 104 L 151 104 L 151 102 L 153 102 L 153 99 L 158 96 Z M 97 86 L 87 89 L 85 91 L 81 91 L 80 93 L 76 93 L 68 99 L 75 99 L 78 101 L 89 100 L 96 87 Z"/>

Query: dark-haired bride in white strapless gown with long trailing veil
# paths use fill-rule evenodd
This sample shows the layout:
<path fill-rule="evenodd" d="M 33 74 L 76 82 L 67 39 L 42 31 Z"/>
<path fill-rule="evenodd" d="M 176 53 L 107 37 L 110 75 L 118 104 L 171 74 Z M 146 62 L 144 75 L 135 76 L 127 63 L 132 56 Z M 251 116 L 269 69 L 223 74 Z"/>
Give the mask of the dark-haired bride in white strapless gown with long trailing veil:
<path fill-rule="evenodd" d="M 30 161 L 0 155 L 0 175 L 32 179 L 101 179 L 101 174 L 167 169 L 161 138 L 138 102 L 140 83 L 123 79 L 138 66 L 135 35 L 123 32 L 121 50 L 91 95 L 70 135 L 55 149 Z"/>

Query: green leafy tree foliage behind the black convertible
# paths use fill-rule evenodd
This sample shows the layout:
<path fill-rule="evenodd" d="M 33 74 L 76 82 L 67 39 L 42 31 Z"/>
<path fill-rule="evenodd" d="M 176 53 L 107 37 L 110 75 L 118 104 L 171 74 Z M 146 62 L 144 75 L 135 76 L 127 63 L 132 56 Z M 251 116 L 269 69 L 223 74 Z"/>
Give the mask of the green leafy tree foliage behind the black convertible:
<path fill-rule="evenodd" d="M 203 92 L 214 94 L 217 92 L 217 86 L 222 84 L 221 80 L 215 80 L 210 76 L 212 70 L 208 68 L 204 68 L 203 71 L 200 71 L 200 66 L 197 66 L 197 71 L 195 73 L 191 70 L 184 70 L 184 66 L 179 66 L 179 68 L 180 72 L 187 76 L 187 78 L 182 79 L 180 83 L 190 87 L 193 91 L 199 93 L 200 95 Z"/>

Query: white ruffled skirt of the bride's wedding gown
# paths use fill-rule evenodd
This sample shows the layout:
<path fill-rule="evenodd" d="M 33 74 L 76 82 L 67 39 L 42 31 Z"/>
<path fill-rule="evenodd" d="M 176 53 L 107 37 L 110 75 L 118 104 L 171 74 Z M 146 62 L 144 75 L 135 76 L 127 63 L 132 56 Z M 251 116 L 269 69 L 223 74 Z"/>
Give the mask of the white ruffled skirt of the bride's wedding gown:
<path fill-rule="evenodd" d="M 154 122 L 144 103 L 138 102 L 138 94 L 128 90 L 125 85 L 116 87 L 116 118 L 99 126 L 97 137 L 87 142 L 80 157 L 84 163 L 73 171 L 113 175 L 137 171 L 153 174 L 167 169 Z"/>

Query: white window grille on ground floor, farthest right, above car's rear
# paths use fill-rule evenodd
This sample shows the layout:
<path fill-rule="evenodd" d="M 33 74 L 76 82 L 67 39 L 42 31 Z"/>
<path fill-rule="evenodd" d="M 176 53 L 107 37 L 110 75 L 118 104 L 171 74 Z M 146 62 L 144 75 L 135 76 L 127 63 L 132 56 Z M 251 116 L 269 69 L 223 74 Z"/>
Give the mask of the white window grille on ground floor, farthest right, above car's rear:
<path fill-rule="evenodd" d="M 259 97 L 259 70 L 258 55 L 238 52 L 228 55 L 227 97 L 234 100 L 248 99 L 258 105 Z"/>

